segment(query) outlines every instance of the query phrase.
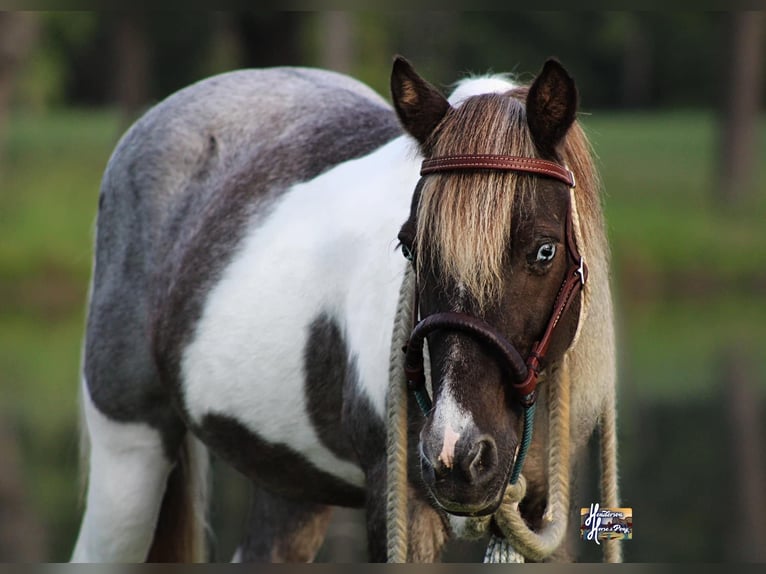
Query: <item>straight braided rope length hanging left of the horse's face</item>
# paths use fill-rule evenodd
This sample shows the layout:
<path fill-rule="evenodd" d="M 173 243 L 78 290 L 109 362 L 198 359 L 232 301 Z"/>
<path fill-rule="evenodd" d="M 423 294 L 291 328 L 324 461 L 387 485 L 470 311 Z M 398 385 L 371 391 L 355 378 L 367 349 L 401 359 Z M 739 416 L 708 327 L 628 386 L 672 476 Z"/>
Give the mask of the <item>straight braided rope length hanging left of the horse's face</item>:
<path fill-rule="evenodd" d="M 402 348 L 412 329 L 415 273 L 404 271 L 391 336 L 386 397 L 386 532 L 388 562 L 407 561 L 407 377 Z"/>

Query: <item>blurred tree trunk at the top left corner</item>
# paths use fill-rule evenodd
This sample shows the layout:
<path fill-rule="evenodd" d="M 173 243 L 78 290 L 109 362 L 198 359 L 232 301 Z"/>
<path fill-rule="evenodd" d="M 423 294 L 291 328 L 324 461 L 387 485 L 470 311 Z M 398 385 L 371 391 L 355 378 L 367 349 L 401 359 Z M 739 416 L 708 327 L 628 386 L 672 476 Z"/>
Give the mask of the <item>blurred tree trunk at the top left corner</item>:
<path fill-rule="evenodd" d="M 0 11 L 0 161 L 16 73 L 37 39 L 37 14 Z"/>

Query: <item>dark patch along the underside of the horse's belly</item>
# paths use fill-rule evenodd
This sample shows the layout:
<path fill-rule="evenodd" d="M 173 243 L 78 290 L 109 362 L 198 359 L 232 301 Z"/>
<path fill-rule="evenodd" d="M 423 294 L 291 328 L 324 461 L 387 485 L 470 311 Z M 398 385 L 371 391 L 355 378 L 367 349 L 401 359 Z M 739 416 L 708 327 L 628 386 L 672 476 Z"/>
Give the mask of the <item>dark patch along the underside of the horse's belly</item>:
<path fill-rule="evenodd" d="M 285 444 L 261 439 L 232 417 L 205 415 L 194 430 L 239 472 L 286 499 L 355 507 L 364 502 L 361 488 L 323 472 Z"/>

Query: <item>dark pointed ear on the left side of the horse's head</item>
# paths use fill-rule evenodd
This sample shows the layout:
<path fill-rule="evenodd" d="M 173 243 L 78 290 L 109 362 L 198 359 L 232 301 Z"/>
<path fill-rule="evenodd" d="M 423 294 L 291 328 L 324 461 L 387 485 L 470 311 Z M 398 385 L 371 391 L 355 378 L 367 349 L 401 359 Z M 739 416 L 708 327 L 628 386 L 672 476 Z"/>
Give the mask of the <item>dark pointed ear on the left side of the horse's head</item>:
<path fill-rule="evenodd" d="M 391 96 L 402 126 L 425 152 L 428 137 L 450 109 L 449 102 L 401 56 L 394 59 Z"/>

